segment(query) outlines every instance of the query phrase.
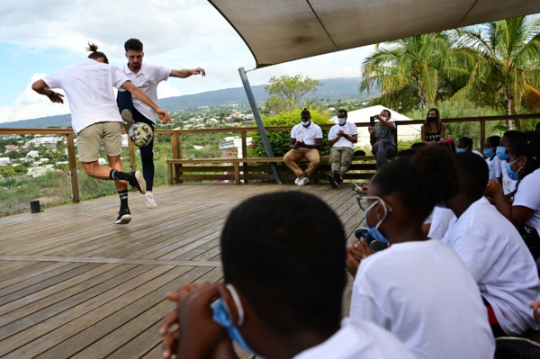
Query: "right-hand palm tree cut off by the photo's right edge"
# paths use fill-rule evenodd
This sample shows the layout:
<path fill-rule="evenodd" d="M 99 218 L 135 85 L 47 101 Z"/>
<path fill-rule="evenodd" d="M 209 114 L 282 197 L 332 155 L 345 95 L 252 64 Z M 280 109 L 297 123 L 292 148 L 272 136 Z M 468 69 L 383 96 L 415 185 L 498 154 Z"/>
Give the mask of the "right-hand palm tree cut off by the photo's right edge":
<path fill-rule="evenodd" d="M 502 107 L 507 114 L 540 109 L 540 19 L 525 16 L 464 29 L 461 44 L 478 51 L 468 84 L 453 99 Z M 519 127 L 519 122 L 518 122 Z M 507 128 L 512 129 L 511 121 Z"/>

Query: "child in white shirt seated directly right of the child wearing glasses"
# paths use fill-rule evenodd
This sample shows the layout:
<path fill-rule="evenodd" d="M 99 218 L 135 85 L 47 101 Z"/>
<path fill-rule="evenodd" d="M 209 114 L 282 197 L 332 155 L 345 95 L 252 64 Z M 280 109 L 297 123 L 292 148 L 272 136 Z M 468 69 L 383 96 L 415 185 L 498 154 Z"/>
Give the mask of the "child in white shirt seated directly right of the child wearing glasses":
<path fill-rule="evenodd" d="M 540 297 L 536 264 L 518 230 L 483 196 L 488 166 L 473 154 L 457 154 L 459 192 L 446 202 L 455 213 L 443 242 L 473 275 L 495 337 L 538 329 L 528 309 Z"/>

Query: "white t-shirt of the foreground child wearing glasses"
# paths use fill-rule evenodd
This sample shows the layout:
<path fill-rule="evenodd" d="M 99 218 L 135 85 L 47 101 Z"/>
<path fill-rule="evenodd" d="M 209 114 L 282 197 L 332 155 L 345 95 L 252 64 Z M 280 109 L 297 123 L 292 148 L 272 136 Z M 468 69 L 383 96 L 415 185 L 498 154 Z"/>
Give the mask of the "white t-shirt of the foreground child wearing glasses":
<path fill-rule="evenodd" d="M 350 316 L 386 328 L 417 359 L 492 358 L 495 351 L 473 277 L 437 239 L 393 244 L 365 258 Z"/>

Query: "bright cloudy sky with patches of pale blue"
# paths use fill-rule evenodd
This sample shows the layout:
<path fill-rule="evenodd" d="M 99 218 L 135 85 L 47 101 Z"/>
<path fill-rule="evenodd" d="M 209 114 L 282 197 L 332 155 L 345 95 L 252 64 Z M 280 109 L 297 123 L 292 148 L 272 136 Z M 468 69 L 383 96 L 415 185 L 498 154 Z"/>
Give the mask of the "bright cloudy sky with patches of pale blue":
<path fill-rule="evenodd" d="M 125 63 L 123 43 L 144 43 L 147 63 L 182 69 L 203 67 L 207 76 L 171 78 L 159 98 L 241 86 L 238 67 L 255 59 L 228 22 L 205 0 L 17 0 L 0 3 L 0 122 L 68 112 L 31 91 L 31 83 L 80 58 L 88 41 L 115 66 Z M 350 49 L 247 73 L 251 85 L 284 74 L 313 78 L 360 76 L 373 47 Z"/>

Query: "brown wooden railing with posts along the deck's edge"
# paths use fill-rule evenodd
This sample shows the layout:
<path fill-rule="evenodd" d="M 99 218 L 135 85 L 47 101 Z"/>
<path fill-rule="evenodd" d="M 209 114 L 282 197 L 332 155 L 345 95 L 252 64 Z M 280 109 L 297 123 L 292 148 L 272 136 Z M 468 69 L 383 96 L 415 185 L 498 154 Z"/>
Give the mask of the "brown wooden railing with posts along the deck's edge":
<path fill-rule="evenodd" d="M 519 114 L 519 115 L 500 115 L 500 116 L 484 116 L 484 117 L 468 117 L 458 119 L 444 119 L 445 123 L 458 122 L 478 122 L 480 126 L 480 143 L 481 147 L 485 140 L 485 124 L 487 121 L 521 121 L 528 119 L 540 119 L 540 113 Z M 399 129 L 402 125 L 418 125 L 422 124 L 423 120 L 398 121 L 398 138 Z M 357 123 L 356 127 L 365 128 L 369 123 Z M 329 129 L 332 125 L 322 125 L 321 128 Z M 267 131 L 274 130 L 291 130 L 291 126 L 275 126 L 267 127 Z M 171 136 L 172 159 L 182 159 L 182 135 L 193 133 L 217 133 L 217 132 L 239 132 L 242 139 L 242 153 L 247 156 L 247 132 L 257 132 L 257 127 L 233 127 L 223 129 L 208 129 L 208 130 L 156 130 L 156 134 L 169 134 Z M 71 129 L 12 129 L 0 128 L 0 135 L 66 135 L 67 142 L 67 158 L 69 162 L 69 174 L 71 175 L 71 189 L 73 202 L 79 202 L 79 190 L 76 174 L 76 150 L 75 150 L 75 134 Z M 130 167 L 135 170 L 135 147 L 129 141 Z"/>

